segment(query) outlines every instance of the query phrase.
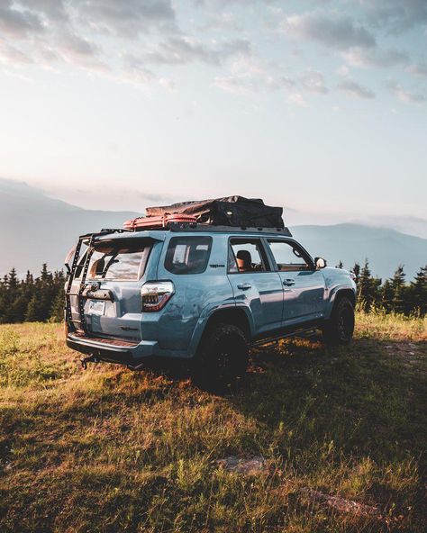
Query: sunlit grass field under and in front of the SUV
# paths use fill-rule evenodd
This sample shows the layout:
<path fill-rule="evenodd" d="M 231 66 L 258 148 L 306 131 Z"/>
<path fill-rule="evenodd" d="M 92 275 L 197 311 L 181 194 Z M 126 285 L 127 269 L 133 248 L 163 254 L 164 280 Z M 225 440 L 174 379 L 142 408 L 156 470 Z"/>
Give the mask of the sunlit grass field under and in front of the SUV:
<path fill-rule="evenodd" d="M 223 396 L 0 326 L 0 531 L 421 533 L 426 326 L 359 314 L 350 348 L 257 349 Z"/>

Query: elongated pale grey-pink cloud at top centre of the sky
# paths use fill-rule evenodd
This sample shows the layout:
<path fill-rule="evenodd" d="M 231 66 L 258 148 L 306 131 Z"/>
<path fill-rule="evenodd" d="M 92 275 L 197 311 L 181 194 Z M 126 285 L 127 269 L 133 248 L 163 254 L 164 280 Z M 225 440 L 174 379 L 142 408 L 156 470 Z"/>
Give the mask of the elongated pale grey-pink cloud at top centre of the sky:
<path fill-rule="evenodd" d="M 250 41 L 235 40 L 206 45 L 189 37 L 172 37 L 161 42 L 157 50 L 145 54 L 145 59 L 148 63 L 163 65 L 182 65 L 192 61 L 221 65 L 226 59 L 239 54 L 250 54 Z"/>

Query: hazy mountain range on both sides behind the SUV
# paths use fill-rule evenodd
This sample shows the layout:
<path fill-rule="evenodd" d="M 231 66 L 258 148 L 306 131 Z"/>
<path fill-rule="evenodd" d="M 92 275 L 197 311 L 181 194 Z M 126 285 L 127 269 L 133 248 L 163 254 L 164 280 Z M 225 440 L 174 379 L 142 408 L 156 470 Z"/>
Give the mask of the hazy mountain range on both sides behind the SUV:
<path fill-rule="evenodd" d="M 36 273 L 43 262 L 50 269 L 60 268 L 78 235 L 121 228 L 123 221 L 139 214 L 82 209 L 24 183 L 0 178 L 0 275 L 12 266 L 20 275 L 27 269 Z M 396 230 L 353 223 L 294 226 L 291 230 L 313 256 L 325 257 L 330 266 L 341 260 L 350 268 L 368 257 L 377 276 L 392 276 L 395 267 L 404 264 L 411 279 L 427 263 L 427 239 Z"/>

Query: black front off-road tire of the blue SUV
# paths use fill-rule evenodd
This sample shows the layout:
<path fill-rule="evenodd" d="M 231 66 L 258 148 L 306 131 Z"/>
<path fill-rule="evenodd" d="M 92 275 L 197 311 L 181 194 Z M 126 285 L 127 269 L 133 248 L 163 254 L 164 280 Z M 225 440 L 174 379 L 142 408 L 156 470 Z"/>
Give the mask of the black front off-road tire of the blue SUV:
<path fill-rule="evenodd" d="M 332 346 L 350 344 L 354 331 L 354 307 L 342 296 L 332 309 L 330 320 L 323 328 L 323 341 Z"/>

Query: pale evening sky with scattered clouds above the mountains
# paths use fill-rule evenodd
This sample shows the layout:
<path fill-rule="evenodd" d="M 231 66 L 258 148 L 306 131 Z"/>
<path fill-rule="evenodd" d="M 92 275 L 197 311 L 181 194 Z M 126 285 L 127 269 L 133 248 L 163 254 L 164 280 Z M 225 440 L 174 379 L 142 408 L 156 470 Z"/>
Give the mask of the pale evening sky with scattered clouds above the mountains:
<path fill-rule="evenodd" d="M 427 0 L 0 0 L 0 177 L 426 219 Z"/>

